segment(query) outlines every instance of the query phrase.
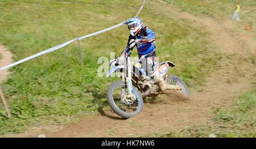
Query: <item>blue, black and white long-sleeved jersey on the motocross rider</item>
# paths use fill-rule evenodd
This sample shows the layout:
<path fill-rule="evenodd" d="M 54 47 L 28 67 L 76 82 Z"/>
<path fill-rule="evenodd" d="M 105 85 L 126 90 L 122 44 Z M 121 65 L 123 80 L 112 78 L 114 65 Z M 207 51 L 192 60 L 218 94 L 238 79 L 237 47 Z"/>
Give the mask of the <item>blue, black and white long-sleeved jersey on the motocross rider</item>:
<path fill-rule="evenodd" d="M 142 42 L 136 45 L 139 56 L 146 55 L 150 52 L 154 53 L 156 50 L 155 32 L 149 27 L 141 28 L 141 31 L 135 36 L 130 35 L 128 43 L 131 39 L 142 39 Z"/>

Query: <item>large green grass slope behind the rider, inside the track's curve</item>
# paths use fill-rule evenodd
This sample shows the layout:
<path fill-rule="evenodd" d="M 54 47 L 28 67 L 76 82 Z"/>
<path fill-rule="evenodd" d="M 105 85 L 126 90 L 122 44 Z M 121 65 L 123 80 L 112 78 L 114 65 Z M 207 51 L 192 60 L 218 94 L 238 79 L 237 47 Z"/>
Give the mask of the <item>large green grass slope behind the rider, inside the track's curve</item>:
<path fill-rule="evenodd" d="M 0 1 L 0 43 L 13 52 L 14 61 L 53 47 L 76 36 L 90 34 L 135 15 L 141 1 Z M 214 68 L 221 56 L 212 51 L 209 33 L 196 22 L 162 15 L 152 2 L 141 18 L 156 32 L 160 61 L 171 60 L 170 72 L 193 88 Z M 135 7 L 137 6 L 137 7 Z M 151 11 L 152 7 L 161 11 Z M 2 84 L 13 118 L 0 104 L 0 134 L 20 133 L 30 126 L 64 125 L 108 106 L 106 90 L 118 78 L 97 76 L 100 56 L 117 56 L 125 48 L 129 31 L 122 26 L 82 40 L 84 63 L 78 45 L 11 68 Z M 134 52 L 135 56 L 136 53 Z M 207 65 L 206 65 L 207 64 Z"/>

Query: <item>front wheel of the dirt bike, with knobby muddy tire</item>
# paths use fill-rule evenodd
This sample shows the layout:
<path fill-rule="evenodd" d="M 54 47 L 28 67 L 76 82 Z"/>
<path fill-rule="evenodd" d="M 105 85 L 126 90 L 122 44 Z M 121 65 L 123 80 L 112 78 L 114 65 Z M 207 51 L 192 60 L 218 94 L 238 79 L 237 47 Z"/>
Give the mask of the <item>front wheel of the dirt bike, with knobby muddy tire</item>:
<path fill-rule="evenodd" d="M 126 84 L 123 81 L 113 82 L 108 89 L 108 102 L 116 114 L 122 118 L 131 118 L 143 109 L 141 94 L 133 86 L 133 98 L 127 98 Z"/>

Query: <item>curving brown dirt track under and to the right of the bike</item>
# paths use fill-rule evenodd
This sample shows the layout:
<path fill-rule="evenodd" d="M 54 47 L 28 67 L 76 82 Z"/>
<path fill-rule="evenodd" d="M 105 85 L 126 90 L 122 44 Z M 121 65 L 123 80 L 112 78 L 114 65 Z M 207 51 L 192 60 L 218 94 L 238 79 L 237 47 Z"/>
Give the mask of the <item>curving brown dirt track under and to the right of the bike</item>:
<path fill-rule="evenodd" d="M 247 43 L 243 45 L 243 40 L 234 36 L 229 26 L 211 18 L 181 13 L 171 7 L 166 10 L 166 14 L 174 17 L 204 24 L 212 33 L 212 42 L 216 45 L 214 50 L 222 53 L 220 67 L 208 76 L 205 86 L 190 90 L 191 100 L 180 101 L 162 96 L 154 104 L 146 103 L 142 113 L 127 120 L 106 110 L 101 115 L 92 115 L 69 126 L 33 128 L 16 137 L 37 137 L 39 134 L 46 137 L 137 137 L 182 130 L 194 123 L 207 123 L 214 107 L 228 106 L 230 101 L 253 87 L 251 80 L 255 79 L 256 72 L 255 65 L 248 59 L 251 55 Z"/>

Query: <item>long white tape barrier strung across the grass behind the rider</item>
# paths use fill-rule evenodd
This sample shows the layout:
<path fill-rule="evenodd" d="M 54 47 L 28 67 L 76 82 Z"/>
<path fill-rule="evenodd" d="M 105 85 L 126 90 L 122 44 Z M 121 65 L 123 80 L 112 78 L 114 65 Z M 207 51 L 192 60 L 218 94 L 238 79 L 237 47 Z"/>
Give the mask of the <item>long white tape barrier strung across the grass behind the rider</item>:
<path fill-rule="evenodd" d="M 141 10 L 143 9 L 143 6 L 144 6 L 145 2 L 146 2 L 146 0 L 143 1 L 142 6 L 141 6 L 141 8 L 139 9 L 139 11 L 138 11 L 138 13 L 136 14 L 136 16 L 138 16 L 139 13 L 141 13 Z M 5 66 L 5 67 L 2 67 L 2 68 L 0 68 L 0 71 L 3 71 L 3 70 L 8 69 L 8 68 L 10 68 L 10 67 L 14 67 L 15 65 L 18 65 L 18 64 L 20 64 L 20 63 L 23 63 L 23 62 L 28 61 L 28 60 L 31 60 L 31 59 L 34 59 L 35 57 L 38 57 L 38 56 L 44 55 L 44 54 L 46 54 L 46 53 L 49 53 L 49 52 L 55 51 L 55 50 L 57 50 L 57 49 L 60 49 L 60 48 L 62 48 L 62 47 L 65 47 L 66 45 L 68 45 L 68 44 L 70 44 L 70 43 L 72 43 L 72 42 L 75 42 L 76 40 L 82 40 L 82 39 L 88 38 L 88 37 L 90 37 L 90 36 L 94 36 L 94 35 L 101 34 L 101 33 L 103 33 L 103 32 L 109 31 L 109 30 L 113 30 L 114 28 L 117 28 L 117 27 L 119 27 L 119 26 L 122 26 L 123 23 L 125 23 L 125 22 L 116 24 L 115 26 L 106 28 L 106 29 L 101 30 L 101 31 L 94 32 L 94 33 L 89 34 L 89 35 L 82 36 L 82 37 L 80 37 L 80 38 L 75 38 L 75 39 L 69 40 L 68 42 L 62 43 L 62 44 L 60 44 L 60 45 L 56 45 L 55 47 L 49 48 L 49 49 L 47 49 L 47 50 L 45 50 L 45 51 L 42 51 L 42 52 L 40 52 L 40 53 L 36 53 L 35 55 L 29 56 L 29 57 L 27 57 L 27 58 L 25 58 L 25 59 L 16 61 L 16 62 L 13 63 L 13 64 L 10 64 L 10 65 L 7 65 L 7 66 Z"/>

